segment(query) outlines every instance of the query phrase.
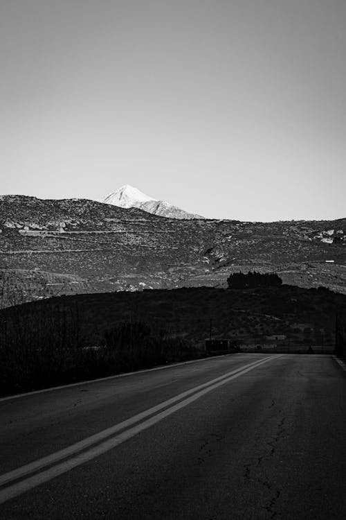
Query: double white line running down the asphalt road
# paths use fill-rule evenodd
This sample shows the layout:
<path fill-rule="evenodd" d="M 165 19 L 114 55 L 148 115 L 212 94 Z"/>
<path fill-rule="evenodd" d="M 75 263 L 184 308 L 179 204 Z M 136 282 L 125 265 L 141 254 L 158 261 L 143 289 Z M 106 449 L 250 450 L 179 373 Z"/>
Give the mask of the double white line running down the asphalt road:
<path fill-rule="evenodd" d="M 255 361 L 239 367 L 237 370 L 233 370 L 233 372 L 228 372 L 223 376 L 167 399 L 167 401 L 163 401 L 163 403 L 157 406 L 138 413 L 134 417 L 115 424 L 95 435 L 91 435 L 91 437 L 87 437 L 80 442 L 71 444 L 67 448 L 55 451 L 51 455 L 0 475 L 0 504 L 109 451 L 118 446 L 118 444 L 125 442 L 125 440 L 134 437 L 137 433 L 160 422 L 168 415 L 188 406 L 193 401 L 197 401 L 197 399 L 208 394 L 208 392 L 212 392 L 215 388 L 219 388 L 219 386 L 225 385 L 233 381 L 233 379 L 246 374 L 246 372 L 250 372 L 278 357 L 280 355 L 269 356 L 261 361 Z"/>

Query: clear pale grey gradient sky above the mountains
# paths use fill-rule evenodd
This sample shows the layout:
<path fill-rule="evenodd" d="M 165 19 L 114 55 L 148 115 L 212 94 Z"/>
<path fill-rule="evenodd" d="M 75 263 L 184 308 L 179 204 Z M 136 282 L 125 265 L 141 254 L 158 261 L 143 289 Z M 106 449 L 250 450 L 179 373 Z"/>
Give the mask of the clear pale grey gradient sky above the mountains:
<path fill-rule="evenodd" d="M 345 0 L 1 0 L 0 193 L 346 217 Z"/>

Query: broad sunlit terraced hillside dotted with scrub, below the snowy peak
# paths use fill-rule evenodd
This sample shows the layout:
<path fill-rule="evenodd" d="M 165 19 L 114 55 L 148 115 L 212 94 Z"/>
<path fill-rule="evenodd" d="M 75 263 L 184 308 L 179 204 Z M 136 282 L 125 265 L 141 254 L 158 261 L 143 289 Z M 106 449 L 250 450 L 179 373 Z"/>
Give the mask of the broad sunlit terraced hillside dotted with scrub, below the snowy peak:
<path fill-rule="evenodd" d="M 346 293 L 346 219 L 176 220 L 91 200 L 0 198 L 1 306 L 53 295 L 226 286 L 231 271 Z"/>

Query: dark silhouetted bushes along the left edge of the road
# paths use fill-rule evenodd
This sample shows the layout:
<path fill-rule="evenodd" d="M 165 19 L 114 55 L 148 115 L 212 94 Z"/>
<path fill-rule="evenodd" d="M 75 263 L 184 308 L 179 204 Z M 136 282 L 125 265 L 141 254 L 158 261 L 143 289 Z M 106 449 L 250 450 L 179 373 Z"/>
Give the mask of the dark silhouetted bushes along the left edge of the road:
<path fill-rule="evenodd" d="M 13 309 L 2 319 L 0 394 L 35 390 L 201 356 L 190 342 L 163 327 L 120 322 L 97 345 L 80 338 L 78 306 L 52 312 Z"/>

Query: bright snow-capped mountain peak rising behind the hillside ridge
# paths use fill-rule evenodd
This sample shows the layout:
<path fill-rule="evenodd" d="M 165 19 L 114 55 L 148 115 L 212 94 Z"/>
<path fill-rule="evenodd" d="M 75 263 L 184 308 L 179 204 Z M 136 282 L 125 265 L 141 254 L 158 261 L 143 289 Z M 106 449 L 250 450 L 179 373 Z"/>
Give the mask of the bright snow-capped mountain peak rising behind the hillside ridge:
<path fill-rule="evenodd" d="M 110 193 L 101 202 L 124 208 L 137 207 L 148 213 L 167 218 L 203 218 L 201 215 L 188 213 L 188 211 L 173 206 L 165 200 L 156 200 L 149 197 L 139 189 L 129 186 L 129 184 L 125 184 L 125 186 Z"/>

